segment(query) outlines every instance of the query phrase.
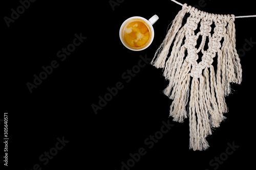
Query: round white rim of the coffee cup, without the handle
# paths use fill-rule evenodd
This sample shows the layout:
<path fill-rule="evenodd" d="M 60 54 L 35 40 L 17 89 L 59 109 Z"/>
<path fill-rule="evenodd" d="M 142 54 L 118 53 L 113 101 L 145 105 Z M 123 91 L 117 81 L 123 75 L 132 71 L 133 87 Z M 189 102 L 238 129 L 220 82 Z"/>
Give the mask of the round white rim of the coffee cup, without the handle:
<path fill-rule="evenodd" d="M 122 28 L 123 28 L 123 26 L 125 25 L 125 23 L 126 23 L 127 21 L 132 20 L 132 19 L 142 19 L 142 20 L 144 20 L 144 21 L 147 23 L 147 25 L 150 26 L 150 29 L 151 29 L 151 34 L 152 34 L 152 35 L 151 35 L 151 40 L 150 40 L 150 42 L 148 42 L 148 44 L 147 44 L 146 46 L 144 46 L 143 48 L 140 48 L 140 49 L 133 49 L 133 48 L 127 46 L 127 45 L 123 42 L 123 40 L 122 40 Z M 154 28 L 153 28 L 152 24 L 151 24 L 150 21 L 148 21 L 146 18 L 143 18 L 143 17 L 141 17 L 141 16 L 133 16 L 133 17 L 127 18 L 125 21 L 123 21 L 123 23 L 122 23 L 122 25 L 121 25 L 121 27 L 120 27 L 120 30 L 119 30 L 119 38 L 120 38 L 122 44 L 123 44 L 126 48 L 128 48 L 129 50 L 132 50 L 132 51 L 142 51 L 142 50 L 145 50 L 145 49 L 146 49 L 148 46 L 150 46 L 151 43 L 153 42 L 154 36 L 155 36 L 155 31 L 154 31 Z"/>

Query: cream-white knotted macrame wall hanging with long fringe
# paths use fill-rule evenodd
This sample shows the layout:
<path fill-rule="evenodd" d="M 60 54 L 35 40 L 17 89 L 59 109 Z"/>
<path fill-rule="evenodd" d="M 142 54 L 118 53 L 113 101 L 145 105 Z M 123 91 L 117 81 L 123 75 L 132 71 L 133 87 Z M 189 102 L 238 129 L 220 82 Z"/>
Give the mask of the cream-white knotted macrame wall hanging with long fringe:
<path fill-rule="evenodd" d="M 190 15 L 182 27 L 186 13 Z M 164 68 L 163 75 L 169 80 L 163 91 L 173 100 L 169 115 L 180 123 L 189 117 L 189 149 L 194 151 L 209 147 L 206 137 L 211 134 L 211 128 L 220 126 L 225 119 L 223 113 L 228 111 L 224 97 L 231 92 L 230 83 L 242 81 L 234 19 L 234 15 L 210 14 L 184 4 L 151 62 L 157 68 Z M 199 23 L 200 31 L 195 33 Z M 196 47 L 199 36 L 202 40 Z M 200 62 L 197 61 L 199 52 L 202 53 Z M 218 61 L 217 69 L 212 65 L 214 58 Z"/>

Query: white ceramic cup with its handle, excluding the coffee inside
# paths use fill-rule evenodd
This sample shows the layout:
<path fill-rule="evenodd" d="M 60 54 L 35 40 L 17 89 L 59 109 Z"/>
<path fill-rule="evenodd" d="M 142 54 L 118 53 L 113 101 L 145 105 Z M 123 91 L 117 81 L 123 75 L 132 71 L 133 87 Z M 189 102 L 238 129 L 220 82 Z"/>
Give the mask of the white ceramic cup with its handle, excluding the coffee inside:
<path fill-rule="evenodd" d="M 123 27 L 125 26 L 125 24 L 126 24 L 127 22 L 129 22 L 129 21 L 132 20 L 132 19 L 142 19 L 142 20 L 144 20 L 144 21 L 147 23 L 147 25 L 150 26 L 150 29 L 151 29 L 151 40 L 150 40 L 150 42 L 149 42 L 146 46 L 144 46 L 143 48 L 140 48 L 140 49 L 133 49 L 133 48 L 127 46 L 127 45 L 123 42 L 123 39 L 122 39 L 122 30 L 123 30 Z M 151 17 L 150 19 L 148 19 L 148 20 L 145 19 L 145 18 L 143 18 L 143 17 L 140 17 L 140 16 L 134 16 L 134 17 L 131 17 L 131 18 L 126 19 L 126 20 L 122 23 L 122 25 L 121 25 L 121 27 L 120 27 L 120 30 L 119 30 L 119 37 L 120 37 L 120 40 L 121 40 L 121 42 L 123 43 L 123 45 L 124 45 L 126 48 L 128 48 L 128 49 L 130 49 L 130 50 L 132 50 L 132 51 L 141 51 L 141 50 L 144 50 L 145 48 L 147 48 L 148 46 L 150 46 L 150 44 L 152 43 L 152 41 L 153 41 L 153 39 L 154 39 L 154 35 L 155 35 L 154 28 L 153 28 L 153 24 L 154 24 L 158 19 L 159 19 L 159 17 L 158 17 L 157 15 L 152 16 L 152 17 Z"/>

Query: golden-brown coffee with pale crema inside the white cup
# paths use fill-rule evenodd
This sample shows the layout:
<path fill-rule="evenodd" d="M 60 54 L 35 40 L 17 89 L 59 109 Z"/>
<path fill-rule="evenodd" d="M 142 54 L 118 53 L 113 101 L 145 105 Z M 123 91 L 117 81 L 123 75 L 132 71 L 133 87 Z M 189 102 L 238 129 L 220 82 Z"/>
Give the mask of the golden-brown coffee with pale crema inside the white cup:
<path fill-rule="evenodd" d="M 142 19 L 132 19 L 122 28 L 122 39 L 124 43 L 136 50 L 150 43 L 151 37 L 150 26 Z"/>

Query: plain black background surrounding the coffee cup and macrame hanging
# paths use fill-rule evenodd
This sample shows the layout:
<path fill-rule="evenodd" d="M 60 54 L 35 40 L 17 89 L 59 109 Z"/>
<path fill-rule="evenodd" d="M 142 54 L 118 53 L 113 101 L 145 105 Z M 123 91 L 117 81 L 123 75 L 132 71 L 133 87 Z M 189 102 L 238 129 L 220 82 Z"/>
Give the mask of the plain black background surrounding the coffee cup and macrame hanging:
<path fill-rule="evenodd" d="M 140 55 L 154 57 L 181 6 L 167 0 L 119 2 L 113 10 L 108 0 L 36 1 L 9 28 L 2 19 L 0 118 L 8 112 L 8 168 L 33 169 L 39 164 L 41 169 L 118 170 L 122 161 L 131 159 L 130 153 L 144 148 L 146 154 L 130 169 L 214 169 L 217 166 L 210 166 L 210 160 L 225 152 L 228 142 L 239 148 L 218 169 L 253 165 L 256 45 L 240 56 L 243 81 L 231 85 L 232 94 L 226 97 L 227 119 L 207 137 L 210 148 L 189 150 L 188 119 L 180 124 L 168 118 L 172 100 L 162 93 L 168 85 L 162 70 L 148 63 L 130 82 L 122 78 L 127 69 L 138 65 Z M 195 6 L 200 1 L 179 2 Z M 252 1 L 205 3 L 201 10 L 209 13 L 256 13 Z M 17 0 L 2 2 L 2 18 L 10 17 L 11 9 L 18 6 Z M 132 16 L 149 19 L 154 14 L 159 20 L 150 47 L 139 52 L 125 48 L 119 38 L 122 22 Z M 256 41 L 254 23 L 255 18 L 236 19 L 237 50 L 243 50 L 245 39 Z M 57 52 L 80 33 L 87 39 L 61 61 Z M 26 83 L 33 83 L 33 75 L 39 75 L 41 67 L 53 60 L 59 66 L 30 93 Z M 117 82 L 122 82 L 123 89 L 95 114 L 92 104 L 98 105 L 99 96 Z M 149 149 L 144 140 L 160 131 L 162 121 L 167 120 L 174 126 Z M 3 124 L 1 129 L 4 133 Z M 57 137 L 69 143 L 44 165 L 38 158 L 55 147 Z"/>

